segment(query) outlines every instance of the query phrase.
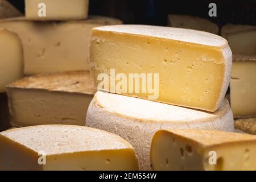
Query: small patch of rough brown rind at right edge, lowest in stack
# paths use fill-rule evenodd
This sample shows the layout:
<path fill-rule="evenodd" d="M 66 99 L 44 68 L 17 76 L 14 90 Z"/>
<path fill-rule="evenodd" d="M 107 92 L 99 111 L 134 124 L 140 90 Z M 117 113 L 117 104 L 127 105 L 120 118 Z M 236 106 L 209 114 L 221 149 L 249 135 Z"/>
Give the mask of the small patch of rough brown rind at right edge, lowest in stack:
<path fill-rule="evenodd" d="M 256 118 L 236 119 L 234 126 L 237 130 L 256 135 Z"/>

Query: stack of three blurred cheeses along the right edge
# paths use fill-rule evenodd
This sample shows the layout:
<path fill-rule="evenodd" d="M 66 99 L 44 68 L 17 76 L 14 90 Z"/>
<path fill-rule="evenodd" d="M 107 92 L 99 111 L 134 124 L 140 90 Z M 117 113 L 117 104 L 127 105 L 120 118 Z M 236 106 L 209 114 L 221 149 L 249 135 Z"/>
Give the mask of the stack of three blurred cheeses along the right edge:
<path fill-rule="evenodd" d="M 253 128 L 256 124 L 250 121 L 256 117 L 256 27 L 226 24 L 221 35 L 228 40 L 234 53 L 230 81 L 230 105 L 234 118 L 249 118 L 238 119 L 236 127 L 255 134 Z"/>

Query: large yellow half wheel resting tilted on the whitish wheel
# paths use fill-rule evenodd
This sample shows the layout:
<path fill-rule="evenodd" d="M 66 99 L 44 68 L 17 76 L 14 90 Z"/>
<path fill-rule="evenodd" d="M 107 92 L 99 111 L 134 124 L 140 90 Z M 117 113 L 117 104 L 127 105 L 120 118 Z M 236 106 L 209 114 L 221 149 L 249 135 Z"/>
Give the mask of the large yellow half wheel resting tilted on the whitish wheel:
<path fill-rule="evenodd" d="M 102 26 L 92 30 L 89 67 L 97 85 L 102 83 L 101 73 L 110 75 L 111 85 L 105 84 L 100 90 L 216 111 L 228 89 L 232 52 L 225 39 L 208 32 L 143 25 Z M 143 76 L 131 82 L 132 74 L 144 75 L 146 84 L 140 81 Z M 118 89 L 121 81 L 113 84 L 113 78 L 120 80 L 120 76 L 129 80 L 122 87 L 127 89 Z M 150 85 L 154 85 L 156 97 L 150 98 Z"/>

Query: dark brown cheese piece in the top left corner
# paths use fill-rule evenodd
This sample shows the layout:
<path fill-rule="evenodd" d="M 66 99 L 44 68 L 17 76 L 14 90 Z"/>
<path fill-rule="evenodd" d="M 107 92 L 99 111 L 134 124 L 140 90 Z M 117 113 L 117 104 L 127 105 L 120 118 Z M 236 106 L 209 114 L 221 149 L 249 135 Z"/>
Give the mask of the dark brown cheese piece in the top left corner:
<path fill-rule="evenodd" d="M 22 16 L 22 13 L 7 0 L 0 0 L 0 18 L 11 18 L 16 16 Z"/>

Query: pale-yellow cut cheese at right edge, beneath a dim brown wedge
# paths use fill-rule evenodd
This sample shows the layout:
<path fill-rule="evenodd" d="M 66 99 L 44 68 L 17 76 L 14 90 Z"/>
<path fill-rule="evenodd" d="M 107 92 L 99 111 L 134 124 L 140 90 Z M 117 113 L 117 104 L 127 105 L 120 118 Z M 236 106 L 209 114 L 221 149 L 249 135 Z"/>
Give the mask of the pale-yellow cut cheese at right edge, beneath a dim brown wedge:
<path fill-rule="evenodd" d="M 256 116 L 256 56 L 234 56 L 230 105 L 235 118 Z"/>

